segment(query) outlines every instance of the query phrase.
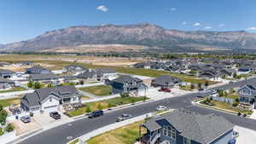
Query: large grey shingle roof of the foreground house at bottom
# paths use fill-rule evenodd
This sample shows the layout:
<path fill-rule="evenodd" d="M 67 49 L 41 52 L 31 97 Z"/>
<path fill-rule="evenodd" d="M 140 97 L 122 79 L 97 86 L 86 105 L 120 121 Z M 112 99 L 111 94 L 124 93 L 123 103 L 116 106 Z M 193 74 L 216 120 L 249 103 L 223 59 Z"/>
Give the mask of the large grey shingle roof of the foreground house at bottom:
<path fill-rule="evenodd" d="M 172 124 L 180 135 L 202 144 L 208 144 L 234 128 L 234 124 L 223 117 L 215 114 L 201 115 L 184 109 L 154 118 L 154 121 L 158 123 L 161 119 Z"/>

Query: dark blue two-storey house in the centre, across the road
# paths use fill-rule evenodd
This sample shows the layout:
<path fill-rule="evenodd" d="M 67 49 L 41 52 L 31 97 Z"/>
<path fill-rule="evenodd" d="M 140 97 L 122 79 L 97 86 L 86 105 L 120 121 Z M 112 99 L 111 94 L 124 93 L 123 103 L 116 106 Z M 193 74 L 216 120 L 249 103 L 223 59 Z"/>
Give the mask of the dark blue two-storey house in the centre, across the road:
<path fill-rule="evenodd" d="M 123 93 L 138 93 L 139 90 L 147 89 L 147 86 L 143 84 L 143 80 L 140 78 L 133 78 L 130 75 L 120 76 L 111 80 L 109 85 L 112 86 L 113 94 Z"/>

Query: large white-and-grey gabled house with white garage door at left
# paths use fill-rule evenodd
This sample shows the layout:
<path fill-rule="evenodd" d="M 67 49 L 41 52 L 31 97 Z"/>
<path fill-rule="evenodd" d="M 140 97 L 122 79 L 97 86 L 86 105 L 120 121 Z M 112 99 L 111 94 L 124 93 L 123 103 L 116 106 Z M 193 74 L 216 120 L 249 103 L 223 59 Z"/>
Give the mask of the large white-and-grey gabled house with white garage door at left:
<path fill-rule="evenodd" d="M 55 86 L 47 89 L 36 89 L 24 95 L 20 107 L 26 112 L 54 112 L 61 106 L 80 106 L 81 95 L 74 86 Z"/>

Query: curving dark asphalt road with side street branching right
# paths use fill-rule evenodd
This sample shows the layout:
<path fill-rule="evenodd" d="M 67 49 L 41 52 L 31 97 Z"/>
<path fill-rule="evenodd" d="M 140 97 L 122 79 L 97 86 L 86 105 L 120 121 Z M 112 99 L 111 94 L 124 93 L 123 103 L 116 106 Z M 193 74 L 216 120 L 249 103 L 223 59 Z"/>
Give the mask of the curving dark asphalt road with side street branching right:
<path fill-rule="evenodd" d="M 256 80 L 256 78 L 248 79 L 247 82 Z M 237 82 L 235 84 L 226 84 L 223 86 L 219 86 L 214 89 L 230 89 L 240 86 L 241 84 L 245 84 L 244 81 Z M 83 118 L 77 121 L 74 121 L 70 124 L 64 124 L 58 126 L 54 129 L 44 131 L 38 135 L 32 136 L 25 141 L 20 142 L 20 144 L 66 144 L 67 136 L 73 136 L 73 138 L 84 135 L 92 130 L 96 130 L 102 126 L 115 123 L 115 118 L 122 113 L 130 113 L 133 116 L 143 115 L 148 112 L 153 112 L 155 107 L 159 105 L 166 105 L 169 108 L 185 108 L 195 112 L 199 112 L 201 114 L 215 113 L 217 115 L 221 115 L 224 118 L 230 120 L 231 123 L 239 125 L 241 127 L 246 127 L 251 130 L 256 130 L 256 121 L 249 118 L 241 118 L 233 114 L 213 111 L 210 109 L 205 109 L 202 107 L 196 107 L 191 104 L 191 101 L 195 100 L 197 95 L 205 96 L 207 94 L 189 94 L 182 95 L 178 97 L 173 97 L 169 99 L 164 99 L 160 101 L 153 101 L 149 103 L 144 103 L 142 105 L 137 105 L 134 107 L 127 107 L 125 109 L 108 112 L 101 118 Z"/>

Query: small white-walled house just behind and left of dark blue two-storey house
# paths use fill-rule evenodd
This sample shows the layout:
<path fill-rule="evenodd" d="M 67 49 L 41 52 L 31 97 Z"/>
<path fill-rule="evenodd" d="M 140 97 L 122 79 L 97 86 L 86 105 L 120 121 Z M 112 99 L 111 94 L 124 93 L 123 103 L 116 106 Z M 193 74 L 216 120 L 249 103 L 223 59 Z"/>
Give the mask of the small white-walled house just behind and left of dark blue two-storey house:
<path fill-rule="evenodd" d="M 97 74 L 98 81 L 104 81 L 106 79 L 117 78 L 117 72 L 112 68 L 96 68 L 95 72 Z"/>

